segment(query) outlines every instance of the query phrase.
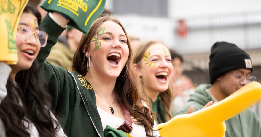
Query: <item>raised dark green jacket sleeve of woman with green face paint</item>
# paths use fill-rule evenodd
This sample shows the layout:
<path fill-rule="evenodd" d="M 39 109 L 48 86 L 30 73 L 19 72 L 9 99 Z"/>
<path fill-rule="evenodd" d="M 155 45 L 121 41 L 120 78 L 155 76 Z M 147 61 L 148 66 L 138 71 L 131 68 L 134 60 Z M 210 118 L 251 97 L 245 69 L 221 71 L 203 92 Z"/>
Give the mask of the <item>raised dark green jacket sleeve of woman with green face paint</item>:
<path fill-rule="evenodd" d="M 55 110 L 56 113 L 58 113 L 58 115 L 59 113 L 68 114 L 68 112 L 64 111 L 69 111 L 66 108 L 68 108 L 69 106 L 69 96 L 71 94 L 69 92 L 70 87 L 74 89 L 74 82 L 71 82 L 72 78 L 68 76 L 67 71 L 64 68 L 52 65 L 49 62 L 45 61 L 51 51 L 52 46 L 55 45 L 59 35 L 65 29 L 54 22 L 52 18 L 47 14 L 40 24 L 40 30 L 45 31 L 49 35 L 47 45 L 41 48 L 37 58 L 41 65 L 42 74 L 47 83 L 47 87 L 52 96 L 52 108 Z M 69 85 L 69 83 L 72 83 L 72 85 Z M 71 96 L 73 97 L 74 94 Z M 61 103 L 62 105 L 60 105 Z M 67 117 L 66 115 L 63 116 Z M 63 121 L 65 122 L 67 118 L 60 119 L 63 119 Z M 60 121 L 61 126 L 65 125 L 63 121 Z"/>

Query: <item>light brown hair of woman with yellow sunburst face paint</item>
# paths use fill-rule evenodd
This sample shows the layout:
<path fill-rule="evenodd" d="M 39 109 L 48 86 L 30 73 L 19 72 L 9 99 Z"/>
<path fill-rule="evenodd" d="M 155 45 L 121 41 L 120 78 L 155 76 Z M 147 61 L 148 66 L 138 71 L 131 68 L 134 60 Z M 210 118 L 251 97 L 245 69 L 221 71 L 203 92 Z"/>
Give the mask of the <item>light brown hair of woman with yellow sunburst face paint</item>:
<path fill-rule="evenodd" d="M 156 40 L 156 39 L 147 39 L 147 40 L 141 41 L 134 50 L 133 64 L 137 64 L 138 67 L 140 68 L 141 67 L 140 61 L 144 57 L 146 50 L 151 45 L 157 44 L 157 43 L 165 45 L 161 40 Z M 166 45 L 165 45 L 165 47 L 168 48 Z M 144 87 L 144 82 L 142 81 L 142 77 L 140 77 L 140 79 L 139 79 L 139 84 L 142 85 L 142 87 Z M 144 89 L 143 89 L 143 95 L 144 95 L 144 97 L 147 97 L 147 100 L 148 100 L 149 97 L 145 94 Z M 171 104 L 172 104 L 173 97 L 172 97 L 171 84 L 168 85 L 168 89 L 166 91 L 160 92 L 160 98 L 163 103 L 164 116 L 165 116 L 166 120 L 168 121 L 172 118 Z M 149 107 L 151 107 L 150 101 L 147 101 L 146 103 Z"/>

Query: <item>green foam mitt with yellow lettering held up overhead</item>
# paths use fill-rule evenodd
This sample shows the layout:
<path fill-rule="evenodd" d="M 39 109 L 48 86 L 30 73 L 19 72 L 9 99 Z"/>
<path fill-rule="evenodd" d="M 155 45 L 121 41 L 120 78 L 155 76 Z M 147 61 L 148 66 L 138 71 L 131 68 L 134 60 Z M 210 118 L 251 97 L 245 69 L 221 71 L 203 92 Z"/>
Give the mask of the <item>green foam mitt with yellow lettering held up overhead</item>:
<path fill-rule="evenodd" d="M 60 12 L 70 21 L 69 26 L 88 32 L 92 22 L 104 10 L 106 0 L 44 0 L 40 7 L 47 12 Z"/>

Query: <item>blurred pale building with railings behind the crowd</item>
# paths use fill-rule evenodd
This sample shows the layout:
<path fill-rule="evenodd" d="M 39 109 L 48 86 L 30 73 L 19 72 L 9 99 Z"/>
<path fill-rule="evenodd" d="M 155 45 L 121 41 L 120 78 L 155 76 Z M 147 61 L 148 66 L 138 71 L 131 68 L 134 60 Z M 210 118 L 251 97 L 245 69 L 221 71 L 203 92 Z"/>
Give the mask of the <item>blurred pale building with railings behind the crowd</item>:
<path fill-rule="evenodd" d="M 216 41 L 235 43 L 252 59 L 261 81 L 261 1 L 259 0 L 107 0 L 105 8 L 128 34 L 162 40 L 184 58 L 184 74 L 195 86 L 209 83 L 210 48 Z M 253 109 L 261 118 L 261 107 Z"/>

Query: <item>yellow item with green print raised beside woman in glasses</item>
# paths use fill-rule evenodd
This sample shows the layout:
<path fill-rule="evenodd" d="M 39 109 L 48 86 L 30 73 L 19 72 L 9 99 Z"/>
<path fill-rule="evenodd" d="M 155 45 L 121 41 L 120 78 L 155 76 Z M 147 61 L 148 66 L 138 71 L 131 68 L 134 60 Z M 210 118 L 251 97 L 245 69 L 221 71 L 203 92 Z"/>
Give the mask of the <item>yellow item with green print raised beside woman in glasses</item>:
<path fill-rule="evenodd" d="M 29 0 L 0 0 L 0 61 L 18 61 L 15 37 L 20 16 Z"/>

